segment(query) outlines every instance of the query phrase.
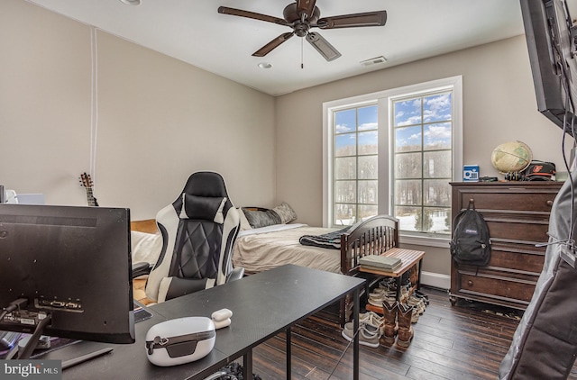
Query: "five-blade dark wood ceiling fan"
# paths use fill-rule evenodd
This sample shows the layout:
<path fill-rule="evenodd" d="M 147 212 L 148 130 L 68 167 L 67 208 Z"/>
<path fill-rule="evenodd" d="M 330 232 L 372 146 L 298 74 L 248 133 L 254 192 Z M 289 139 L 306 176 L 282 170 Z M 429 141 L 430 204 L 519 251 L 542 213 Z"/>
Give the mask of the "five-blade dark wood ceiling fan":
<path fill-rule="evenodd" d="M 321 11 L 316 6 L 316 0 L 297 0 L 296 3 L 289 4 L 283 11 L 284 19 L 269 16 L 266 14 L 256 14 L 242 9 L 229 8 L 226 6 L 218 7 L 219 14 L 231 14 L 234 16 L 247 17 L 254 20 L 266 21 L 268 23 L 277 23 L 279 25 L 289 26 L 292 32 L 286 32 L 279 37 L 264 45 L 261 49 L 255 51 L 253 57 L 264 57 L 270 51 L 279 47 L 279 45 L 294 36 L 305 37 L 306 40 L 323 56 L 326 60 L 331 61 L 341 57 L 341 53 L 334 49 L 328 41 L 317 32 L 309 32 L 310 28 L 320 29 L 339 29 L 353 28 L 360 26 L 383 26 L 387 23 L 387 11 L 366 12 L 362 14 L 343 14 L 333 17 L 320 18 Z"/>

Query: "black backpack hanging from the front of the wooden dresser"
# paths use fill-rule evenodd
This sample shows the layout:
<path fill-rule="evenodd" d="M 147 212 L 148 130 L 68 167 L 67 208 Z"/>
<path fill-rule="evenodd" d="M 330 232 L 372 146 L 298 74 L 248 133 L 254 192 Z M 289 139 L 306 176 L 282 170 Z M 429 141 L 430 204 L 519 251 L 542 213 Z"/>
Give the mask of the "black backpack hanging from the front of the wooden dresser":
<path fill-rule="evenodd" d="M 490 261 L 490 235 L 487 222 L 471 203 L 454 218 L 451 256 L 459 264 L 484 267 Z"/>

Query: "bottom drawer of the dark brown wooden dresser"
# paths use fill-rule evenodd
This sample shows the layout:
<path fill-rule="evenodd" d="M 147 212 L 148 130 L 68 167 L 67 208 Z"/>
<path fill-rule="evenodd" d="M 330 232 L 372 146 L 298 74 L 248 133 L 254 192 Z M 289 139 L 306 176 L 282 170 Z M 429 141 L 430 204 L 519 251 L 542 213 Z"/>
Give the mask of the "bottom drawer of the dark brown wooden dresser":
<path fill-rule="evenodd" d="M 460 273 L 455 293 L 463 296 L 471 294 L 500 301 L 529 303 L 535 291 L 537 278 L 524 280 L 513 277 Z"/>

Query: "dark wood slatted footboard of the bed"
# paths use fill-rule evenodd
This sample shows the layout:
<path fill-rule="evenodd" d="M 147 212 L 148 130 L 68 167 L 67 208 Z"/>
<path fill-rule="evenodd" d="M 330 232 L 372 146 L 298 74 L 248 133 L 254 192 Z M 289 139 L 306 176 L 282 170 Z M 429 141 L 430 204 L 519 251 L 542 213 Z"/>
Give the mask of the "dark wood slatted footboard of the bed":
<path fill-rule="evenodd" d="M 373 216 L 341 235 L 341 272 L 346 276 L 358 276 L 360 258 L 380 255 L 395 247 L 398 247 L 398 219 L 389 215 Z M 342 326 L 350 320 L 352 305 L 350 294 L 341 301 Z"/>

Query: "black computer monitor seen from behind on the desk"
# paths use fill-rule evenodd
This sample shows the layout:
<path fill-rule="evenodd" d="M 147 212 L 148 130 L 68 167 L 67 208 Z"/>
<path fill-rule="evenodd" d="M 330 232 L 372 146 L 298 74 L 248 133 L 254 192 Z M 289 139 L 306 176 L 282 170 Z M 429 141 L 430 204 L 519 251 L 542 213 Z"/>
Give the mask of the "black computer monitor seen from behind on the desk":
<path fill-rule="evenodd" d="M 0 330 L 134 342 L 128 209 L 0 204 L 0 267 Z"/>

